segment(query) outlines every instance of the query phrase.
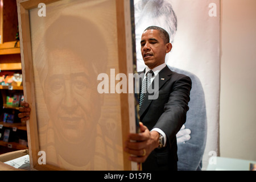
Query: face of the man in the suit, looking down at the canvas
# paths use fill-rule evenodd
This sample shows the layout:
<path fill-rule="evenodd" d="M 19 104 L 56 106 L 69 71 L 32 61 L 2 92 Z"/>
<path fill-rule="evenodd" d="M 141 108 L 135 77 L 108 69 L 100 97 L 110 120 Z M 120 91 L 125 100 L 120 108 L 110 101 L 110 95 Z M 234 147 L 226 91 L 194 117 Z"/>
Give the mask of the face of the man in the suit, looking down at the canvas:
<path fill-rule="evenodd" d="M 146 30 L 141 37 L 141 53 L 144 63 L 153 69 L 165 61 L 166 53 L 170 52 L 170 43 L 164 44 L 158 30 Z"/>

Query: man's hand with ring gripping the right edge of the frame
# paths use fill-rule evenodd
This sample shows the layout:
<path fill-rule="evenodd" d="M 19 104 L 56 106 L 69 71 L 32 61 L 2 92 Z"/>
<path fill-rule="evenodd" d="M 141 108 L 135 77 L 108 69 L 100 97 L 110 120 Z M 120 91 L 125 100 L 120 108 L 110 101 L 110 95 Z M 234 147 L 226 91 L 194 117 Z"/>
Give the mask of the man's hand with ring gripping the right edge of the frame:
<path fill-rule="evenodd" d="M 143 163 L 148 155 L 159 146 L 159 133 L 157 131 L 149 131 L 146 126 L 139 123 L 141 133 L 129 134 L 124 150 L 131 154 L 129 160 L 133 162 Z"/>

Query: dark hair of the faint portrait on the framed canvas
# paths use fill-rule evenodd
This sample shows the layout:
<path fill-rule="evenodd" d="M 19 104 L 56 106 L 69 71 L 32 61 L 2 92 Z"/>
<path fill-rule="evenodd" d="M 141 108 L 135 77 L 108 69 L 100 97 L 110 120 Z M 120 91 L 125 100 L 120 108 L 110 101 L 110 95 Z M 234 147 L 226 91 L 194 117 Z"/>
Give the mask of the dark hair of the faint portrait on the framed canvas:
<path fill-rule="evenodd" d="M 72 51 L 93 74 L 106 71 L 108 46 L 97 24 L 89 19 L 61 15 L 47 28 L 35 57 L 36 69 L 42 81 L 47 77 L 48 56 L 55 50 Z"/>

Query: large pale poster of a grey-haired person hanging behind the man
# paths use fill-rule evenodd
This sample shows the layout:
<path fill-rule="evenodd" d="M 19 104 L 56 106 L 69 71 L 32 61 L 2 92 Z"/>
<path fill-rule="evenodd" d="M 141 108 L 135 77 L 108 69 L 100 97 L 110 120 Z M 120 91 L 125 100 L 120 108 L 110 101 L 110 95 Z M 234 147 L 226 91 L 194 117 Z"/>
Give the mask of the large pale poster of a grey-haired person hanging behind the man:
<path fill-rule="evenodd" d="M 148 26 L 170 34 L 166 64 L 191 77 L 187 122 L 177 133 L 178 170 L 206 169 L 218 154 L 220 0 L 134 0 L 137 71 L 145 67 L 141 35 Z"/>

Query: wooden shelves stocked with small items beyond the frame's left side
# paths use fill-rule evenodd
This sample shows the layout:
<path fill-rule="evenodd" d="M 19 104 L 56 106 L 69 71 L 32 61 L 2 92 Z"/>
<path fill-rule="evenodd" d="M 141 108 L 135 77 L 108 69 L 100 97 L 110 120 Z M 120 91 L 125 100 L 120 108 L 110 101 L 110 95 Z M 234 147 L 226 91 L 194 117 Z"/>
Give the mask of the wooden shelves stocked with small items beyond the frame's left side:
<path fill-rule="evenodd" d="M 16 82 L 17 79 L 13 79 L 14 73 L 15 76 L 22 75 L 20 44 L 16 35 L 18 32 L 17 6 L 15 0 L 0 1 L 0 96 L 2 97 L 0 99 L 2 111 L 0 113 L 0 154 L 3 154 L 28 147 L 26 123 L 22 123 L 18 118 L 19 104 L 13 105 L 11 102 L 13 96 L 23 95 L 22 82 L 20 80 Z M 9 117 L 9 114 L 13 117 Z M 4 139 L 7 133 L 9 138 Z"/>

